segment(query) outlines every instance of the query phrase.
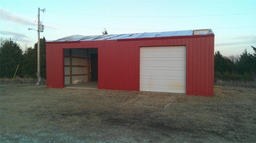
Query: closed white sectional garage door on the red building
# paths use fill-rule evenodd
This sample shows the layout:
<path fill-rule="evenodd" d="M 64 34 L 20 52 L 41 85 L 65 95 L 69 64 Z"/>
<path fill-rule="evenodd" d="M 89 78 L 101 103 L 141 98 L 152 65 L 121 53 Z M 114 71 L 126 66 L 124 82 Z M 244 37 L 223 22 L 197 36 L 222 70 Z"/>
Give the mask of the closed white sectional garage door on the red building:
<path fill-rule="evenodd" d="M 140 47 L 140 91 L 186 93 L 186 46 Z"/>

